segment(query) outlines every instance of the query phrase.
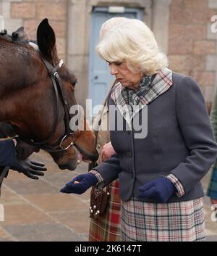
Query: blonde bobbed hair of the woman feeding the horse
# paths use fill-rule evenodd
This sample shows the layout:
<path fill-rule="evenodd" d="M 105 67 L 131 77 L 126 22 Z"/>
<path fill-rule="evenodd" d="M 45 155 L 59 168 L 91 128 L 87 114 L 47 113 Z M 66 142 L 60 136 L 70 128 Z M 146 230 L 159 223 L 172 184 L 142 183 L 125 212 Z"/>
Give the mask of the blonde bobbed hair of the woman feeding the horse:
<path fill-rule="evenodd" d="M 167 67 L 168 59 L 160 51 L 150 28 L 140 20 L 119 18 L 122 18 L 120 22 L 110 19 L 103 23 L 96 46 L 98 55 L 108 62 L 125 60 L 129 70 L 144 75 L 153 75 L 162 67 Z"/>

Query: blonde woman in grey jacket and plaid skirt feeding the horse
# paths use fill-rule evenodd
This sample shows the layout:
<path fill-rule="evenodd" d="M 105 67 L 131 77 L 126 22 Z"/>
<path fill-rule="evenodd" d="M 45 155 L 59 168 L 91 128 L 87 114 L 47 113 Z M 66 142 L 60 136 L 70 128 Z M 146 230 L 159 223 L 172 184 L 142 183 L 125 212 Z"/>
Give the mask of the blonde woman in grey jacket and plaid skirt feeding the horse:
<path fill-rule="evenodd" d="M 82 194 L 119 177 L 122 241 L 205 239 L 200 180 L 217 147 L 197 83 L 167 68 L 140 20 L 111 28 L 97 51 L 117 80 L 108 98 L 116 154 L 61 191 Z"/>

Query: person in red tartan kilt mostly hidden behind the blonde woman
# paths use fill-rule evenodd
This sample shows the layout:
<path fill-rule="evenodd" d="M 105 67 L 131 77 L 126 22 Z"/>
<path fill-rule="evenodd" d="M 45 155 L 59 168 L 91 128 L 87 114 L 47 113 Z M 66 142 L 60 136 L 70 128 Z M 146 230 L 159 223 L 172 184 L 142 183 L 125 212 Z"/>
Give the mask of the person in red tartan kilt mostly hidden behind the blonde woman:
<path fill-rule="evenodd" d="M 107 110 L 103 111 L 103 113 L 104 115 L 101 117 L 101 124 L 103 123 L 104 116 L 107 120 Z M 97 150 L 99 153 L 97 164 L 99 165 L 101 162 L 111 157 L 115 152 L 111 146 L 111 142 L 108 142 L 110 141 L 109 131 L 101 130 L 101 125 L 97 131 Z M 92 170 L 92 168 L 90 170 Z M 119 181 L 113 181 L 104 190 L 109 191 L 106 209 L 104 212 L 101 212 L 100 215 L 90 215 L 89 241 L 119 241 L 120 239 Z M 95 192 L 93 187 L 90 194 L 95 194 Z M 90 205 L 93 205 L 93 203 L 94 202 L 90 199 Z"/>

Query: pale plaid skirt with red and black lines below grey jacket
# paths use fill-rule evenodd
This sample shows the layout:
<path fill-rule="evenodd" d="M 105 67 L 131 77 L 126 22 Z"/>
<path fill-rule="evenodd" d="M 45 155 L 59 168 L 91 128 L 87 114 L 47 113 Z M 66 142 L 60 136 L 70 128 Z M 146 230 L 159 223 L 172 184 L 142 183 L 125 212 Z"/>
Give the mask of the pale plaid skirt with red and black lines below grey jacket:
<path fill-rule="evenodd" d="M 203 199 L 170 204 L 122 201 L 122 241 L 203 241 Z"/>

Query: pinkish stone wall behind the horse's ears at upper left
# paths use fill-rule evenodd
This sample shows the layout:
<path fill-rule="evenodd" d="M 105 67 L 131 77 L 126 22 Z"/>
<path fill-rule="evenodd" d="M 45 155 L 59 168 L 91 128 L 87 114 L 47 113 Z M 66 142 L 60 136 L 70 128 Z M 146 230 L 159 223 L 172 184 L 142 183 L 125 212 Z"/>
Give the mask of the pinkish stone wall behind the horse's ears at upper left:
<path fill-rule="evenodd" d="M 5 28 L 9 33 L 20 26 L 25 27 L 27 36 L 36 37 L 38 24 L 44 18 L 56 33 L 56 45 L 60 58 L 67 60 L 67 0 L 0 0 L 0 15 L 4 16 Z"/>

